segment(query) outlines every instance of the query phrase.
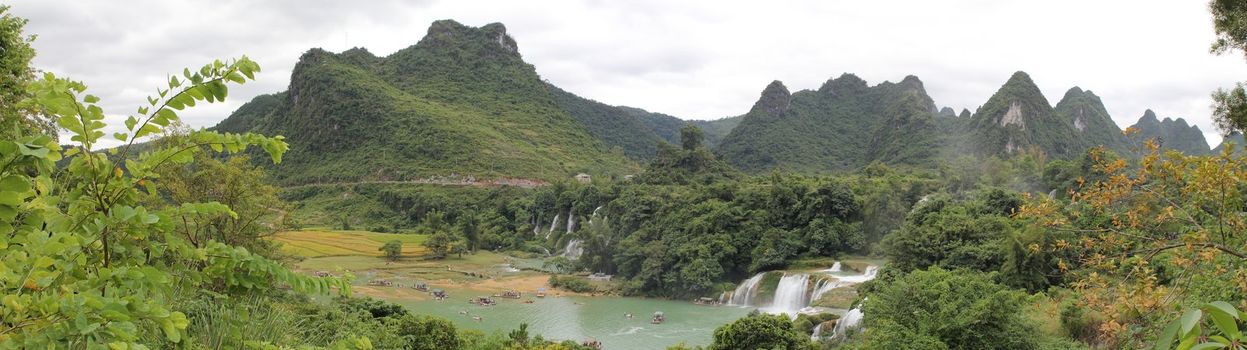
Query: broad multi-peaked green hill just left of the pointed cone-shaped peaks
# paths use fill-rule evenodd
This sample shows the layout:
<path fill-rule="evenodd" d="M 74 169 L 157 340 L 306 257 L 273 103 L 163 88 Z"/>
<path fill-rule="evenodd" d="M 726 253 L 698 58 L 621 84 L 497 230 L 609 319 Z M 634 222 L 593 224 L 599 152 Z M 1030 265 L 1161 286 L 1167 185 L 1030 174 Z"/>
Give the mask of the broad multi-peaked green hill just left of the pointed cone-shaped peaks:
<path fill-rule="evenodd" d="M 845 73 L 796 93 L 776 81 L 718 153 L 747 172 L 845 171 L 874 161 L 927 164 L 939 151 L 934 127 L 935 105 L 914 76 L 868 86 Z"/>

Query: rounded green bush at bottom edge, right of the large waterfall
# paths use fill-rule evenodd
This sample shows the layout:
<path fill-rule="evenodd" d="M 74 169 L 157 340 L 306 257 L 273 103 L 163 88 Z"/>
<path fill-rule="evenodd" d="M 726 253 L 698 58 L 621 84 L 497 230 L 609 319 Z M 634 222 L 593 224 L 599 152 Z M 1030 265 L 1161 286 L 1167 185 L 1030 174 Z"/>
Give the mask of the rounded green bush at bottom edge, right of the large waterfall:
<path fill-rule="evenodd" d="M 875 286 L 864 303 L 862 349 L 1036 349 L 1024 294 L 990 274 L 915 270 Z"/>

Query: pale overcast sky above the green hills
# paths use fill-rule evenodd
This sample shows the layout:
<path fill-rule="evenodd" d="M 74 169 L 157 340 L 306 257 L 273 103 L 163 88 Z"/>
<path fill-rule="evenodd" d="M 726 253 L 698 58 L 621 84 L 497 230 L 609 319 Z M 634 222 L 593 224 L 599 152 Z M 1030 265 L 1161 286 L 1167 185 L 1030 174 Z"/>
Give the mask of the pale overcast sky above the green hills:
<path fill-rule="evenodd" d="M 844 72 L 872 85 L 915 75 L 938 105 L 973 111 L 1021 70 L 1051 103 L 1080 86 L 1122 127 L 1152 108 L 1216 146 L 1208 93 L 1247 80 L 1242 56 L 1208 54 L 1203 0 L 7 2 L 39 35 L 35 65 L 86 82 L 117 120 L 182 67 L 259 62 L 258 82 L 183 113 L 197 127 L 286 90 L 311 47 L 389 55 L 439 19 L 505 24 L 567 91 L 696 120 L 744 113 L 772 80 L 812 90 Z"/>

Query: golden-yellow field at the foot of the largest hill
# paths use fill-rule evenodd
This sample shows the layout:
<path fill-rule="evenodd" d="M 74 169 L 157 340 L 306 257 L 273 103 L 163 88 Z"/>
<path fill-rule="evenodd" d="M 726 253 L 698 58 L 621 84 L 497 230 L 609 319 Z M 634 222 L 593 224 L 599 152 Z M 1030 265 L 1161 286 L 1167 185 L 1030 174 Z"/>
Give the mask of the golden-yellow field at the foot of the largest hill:
<path fill-rule="evenodd" d="M 289 230 L 278 233 L 274 240 L 282 243 L 282 252 L 303 257 L 382 257 L 378 250 L 385 242 L 403 242 L 403 258 L 416 258 L 425 253 L 421 245 L 428 235 L 373 233 L 363 230 Z"/>

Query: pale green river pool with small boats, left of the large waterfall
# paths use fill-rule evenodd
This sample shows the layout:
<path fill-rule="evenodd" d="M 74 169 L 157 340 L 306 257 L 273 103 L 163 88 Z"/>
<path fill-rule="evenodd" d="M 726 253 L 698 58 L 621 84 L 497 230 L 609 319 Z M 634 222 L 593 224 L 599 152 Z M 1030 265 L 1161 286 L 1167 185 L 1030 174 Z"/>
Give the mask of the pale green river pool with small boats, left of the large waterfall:
<path fill-rule="evenodd" d="M 431 314 L 466 329 L 509 331 L 529 324 L 531 334 L 546 339 L 597 339 L 606 349 L 663 349 L 681 341 L 708 345 L 715 328 L 748 314 L 752 308 L 707 306 L 688 301 L 616 296 L 562 296 L 531 299 L 496 299 L 499 305 L 479 306 L 466 300 L 475 295 L 454 294 L 444 301 L 399 301 L 419 314 Z M 468 315 L 460 311 L 468 311 Z M 663 324 L 650 324 L 650 316 L 662 311 Z M 632 314 L 632 319 L 625 315 Z M 473 320 L 480 316 L 480 321 Z"/>

